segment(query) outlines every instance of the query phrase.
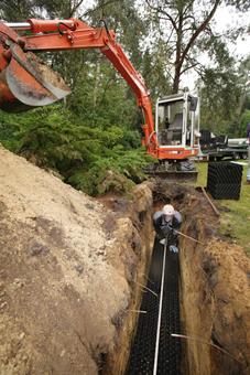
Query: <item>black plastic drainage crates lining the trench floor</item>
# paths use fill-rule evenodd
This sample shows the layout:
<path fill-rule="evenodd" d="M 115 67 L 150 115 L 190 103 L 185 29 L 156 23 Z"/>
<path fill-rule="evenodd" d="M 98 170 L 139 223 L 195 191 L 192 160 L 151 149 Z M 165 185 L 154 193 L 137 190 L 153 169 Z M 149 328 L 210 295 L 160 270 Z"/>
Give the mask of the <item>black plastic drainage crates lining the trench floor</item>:
<path fill-rule="evenodd" d="M 127 375 L 150 375 L 155 371 L 155 344 L 159 321 L 160 294 L 164 261 L 164 246 L 155 240 L 152 262 L 138 322 L 137 333 L 131 347 Z M 157 352 L 157 375 L 181 374 L 181 341 L 171 333 L 181 333 L 178 299 L 178 254 L 166 248 L 165 275 L 162 299 L 160 340 Z"/>

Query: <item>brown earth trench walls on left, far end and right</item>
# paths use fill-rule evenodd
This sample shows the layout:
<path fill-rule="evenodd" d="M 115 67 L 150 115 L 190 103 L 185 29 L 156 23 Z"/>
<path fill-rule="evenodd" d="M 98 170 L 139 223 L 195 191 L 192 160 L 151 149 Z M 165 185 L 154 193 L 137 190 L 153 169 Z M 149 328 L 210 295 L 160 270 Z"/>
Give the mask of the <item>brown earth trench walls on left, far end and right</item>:
<path fill-rule="evenodd" d="M 153 248 L 152 214 L 165 203 L 181 211 L 182 232 L 202 243 L 180 237 L 182 334 L 187 336 L 180 339 L 183 374 L 250 374 L 250 259 L 240 247 L 216 236 L 218 218 L 200 193 L 162 183 L 135 189 L 115 234 L 120 239 L 117 258 L 110 261 L 116 265 L 122 258 L 131 298 L 115 322 L 117 344 L 102 374 L 124 373 L 139 317 L 132 310 L 140 309 Z"/>

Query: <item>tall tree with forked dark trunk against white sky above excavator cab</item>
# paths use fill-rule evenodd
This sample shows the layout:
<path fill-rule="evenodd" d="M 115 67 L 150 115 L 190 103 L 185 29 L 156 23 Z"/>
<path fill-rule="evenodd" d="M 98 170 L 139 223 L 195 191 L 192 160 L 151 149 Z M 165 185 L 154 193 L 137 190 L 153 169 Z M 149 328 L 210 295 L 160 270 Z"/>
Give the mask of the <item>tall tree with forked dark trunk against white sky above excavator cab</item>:
<path fill-rule="evenodd" d="M 148 18 L 153 23 L 153 38 L 165 43 L 166 67 L 173 72 L 172 92 L 177 93 L 183 74 L 196 71 L 203 78 L 207 55 L 217 68 L 218 56 L 227 55 L 227 41 L 243 31 L 241 25 L 216 32 L 214 17 L 219 7 L 231 4 L 238 10 L 247 7 L 244 0 L 146 0 Z M 152 34 L 152 32 L 151 32 Z M 221 66 L 220 58 L 219 65 Z M 227 60 L 225 61 L 226 64 Z M 207 64 L 208 65 L 208 64 Z M 219 66 L 219 67 L 220 67 Z"/>

